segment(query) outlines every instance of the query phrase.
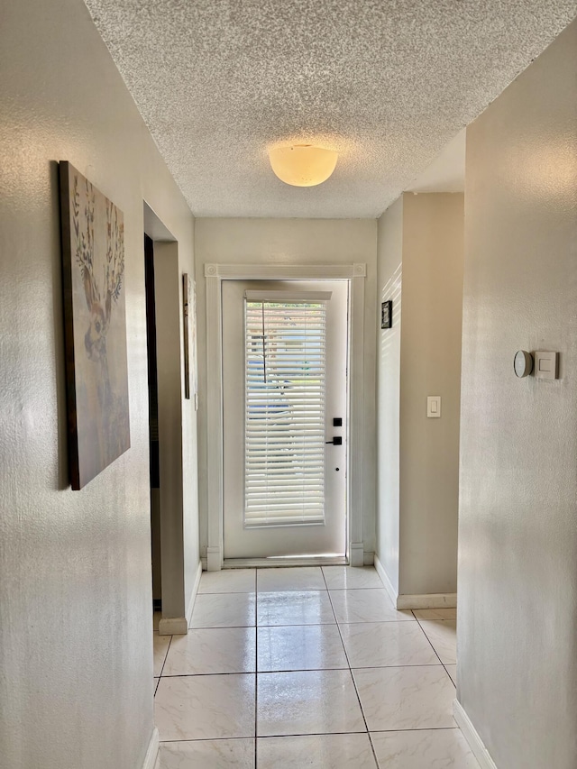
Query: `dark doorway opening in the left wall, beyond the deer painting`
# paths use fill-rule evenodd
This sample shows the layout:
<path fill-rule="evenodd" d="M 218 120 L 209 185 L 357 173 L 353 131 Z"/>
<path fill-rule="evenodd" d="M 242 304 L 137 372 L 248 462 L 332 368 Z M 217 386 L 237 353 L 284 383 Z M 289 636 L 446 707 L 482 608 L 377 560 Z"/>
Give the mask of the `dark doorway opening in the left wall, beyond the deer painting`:
<path fill-rule="evenodd" d="M 184 592 L 182 371 L 178 243 L 144 203 L 151 571 L 160 635 L 187 632 Z"/>

